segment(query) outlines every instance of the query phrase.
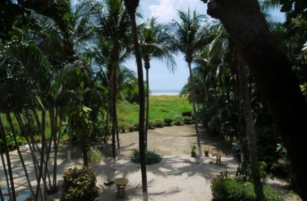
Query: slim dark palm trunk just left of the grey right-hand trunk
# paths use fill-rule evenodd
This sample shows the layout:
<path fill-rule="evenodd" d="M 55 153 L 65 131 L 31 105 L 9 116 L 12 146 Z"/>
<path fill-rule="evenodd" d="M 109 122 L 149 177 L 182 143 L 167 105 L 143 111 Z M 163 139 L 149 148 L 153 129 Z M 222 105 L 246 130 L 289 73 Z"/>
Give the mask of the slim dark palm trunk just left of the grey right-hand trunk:
<path fill-rule="evenodd" d="M 241 156 L 241 163 L 244 162 L 244 144 L 243 144 L 243 126 L 242 126 L 242 112 L 241 112 L 241 98 L 240 98 L 240 78 L 239 78 L 239 69 L 235 68 L 236 80 L 235 80 L 235 91 L 234 91 L 234 98 L 235 98 L 235 107 L 238 113 L 238 137 L 240 141 L 240 156 Z"/>

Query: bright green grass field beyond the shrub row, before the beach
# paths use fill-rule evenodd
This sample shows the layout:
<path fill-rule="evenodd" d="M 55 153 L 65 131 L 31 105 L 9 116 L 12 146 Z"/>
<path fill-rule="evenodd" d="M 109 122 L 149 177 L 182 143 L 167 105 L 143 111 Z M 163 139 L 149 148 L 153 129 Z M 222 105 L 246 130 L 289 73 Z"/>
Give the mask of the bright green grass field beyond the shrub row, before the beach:
<path fill-rule="evenodd" d="M 179 96 L 149 96 L 149 120 L 156 118 L 174 117 L 182 115 L 183 110 L 193 111 L 192 104 L 187 97 Z M 117 116 L 119 121 L 129 124 L 139 120 L 139 105 L 130 104 L 127 101 L 120 101 L 117 104 Z"/>

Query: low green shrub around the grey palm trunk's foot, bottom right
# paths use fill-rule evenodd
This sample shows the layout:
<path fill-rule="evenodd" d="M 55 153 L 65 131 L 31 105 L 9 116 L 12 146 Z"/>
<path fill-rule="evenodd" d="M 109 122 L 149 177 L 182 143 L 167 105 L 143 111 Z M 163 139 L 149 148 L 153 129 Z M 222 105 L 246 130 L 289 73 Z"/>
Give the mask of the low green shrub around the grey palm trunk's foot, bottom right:
<path fill-rule="evenodd" d="M 256 194 L 254 184 L 250 181 L 244 181 L 240 178 L 231 178 L 225 171 L 220 172 L 211 180 L 211 192 L 215 201 L 254 201 Z M 263 184 L 264 201 L 283 201 L 284 197 L 274 188 Z"/>

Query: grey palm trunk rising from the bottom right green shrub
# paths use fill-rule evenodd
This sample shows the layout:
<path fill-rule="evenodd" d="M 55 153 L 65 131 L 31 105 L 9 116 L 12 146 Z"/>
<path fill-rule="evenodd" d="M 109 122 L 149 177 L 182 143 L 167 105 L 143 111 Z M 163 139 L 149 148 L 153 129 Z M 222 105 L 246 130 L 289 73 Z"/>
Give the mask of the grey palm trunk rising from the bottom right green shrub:
<path fill-rule="evenodd" d="M 244 119 L 247 130 L 248 145 L 250 151 L 250 170 L 254 179 L 254 189 L 257 199 L 262 200 L 264 198 L 263 187 L 260 181 L 260 173 L 258 168 L 258 150 L 257 150 L 257 138 L 256 129 L 254 125 L 254 118 L 252 114 L 252 108 L 250 105 L 250 95 L 247 86 L 247 69 L 243 63 L 241 53 L 238 52 L 238 68 L 240 75 L 240 86 L 242 90 L 242 102 Z"/>

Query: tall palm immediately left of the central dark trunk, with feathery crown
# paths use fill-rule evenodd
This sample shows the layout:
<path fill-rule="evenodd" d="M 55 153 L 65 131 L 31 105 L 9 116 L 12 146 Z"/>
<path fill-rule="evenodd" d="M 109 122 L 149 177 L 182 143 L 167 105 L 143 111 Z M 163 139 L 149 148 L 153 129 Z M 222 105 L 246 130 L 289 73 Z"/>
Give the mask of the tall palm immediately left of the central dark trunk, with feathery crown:
<path fill-rule="evenodd" d="M 110 46 L 107 63 L 108 72 L 110 72 L 108 76 L 109 101 L 107 113 L 110 113 L 112 109 L 112 155 L 114 166 L 116 164 L 116 115 L 114 115 L 116 112 L 116 77 L 118 75 L 120 55 L 124 54 L 131 44 L 131 28 L 129 23 L 128 11 L 120 0 L 106 0 L 103 6 L 98 6 L 95 9 L 94 24 L 96 25 L 97 33 Z M 106 128 L 108 128 L 108 119 L 106 121 Z"/>

